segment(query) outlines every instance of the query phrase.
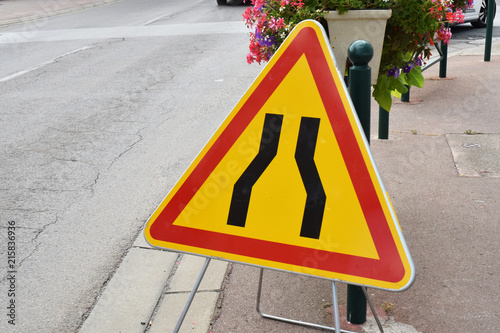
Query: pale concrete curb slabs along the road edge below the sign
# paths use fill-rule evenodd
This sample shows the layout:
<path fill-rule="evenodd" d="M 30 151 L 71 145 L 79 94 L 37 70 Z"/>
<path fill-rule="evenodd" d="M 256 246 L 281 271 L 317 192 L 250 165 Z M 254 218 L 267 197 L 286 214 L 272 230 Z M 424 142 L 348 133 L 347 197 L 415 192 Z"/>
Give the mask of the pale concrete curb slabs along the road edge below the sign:
<path fill-rule="evenodd" d="M 141 233 L 79 332 L 172 332 L 204 262 L 203 257 L 151 248 Z M 227 265 L 210 262 L 180 332 L 208 331 Z"/>

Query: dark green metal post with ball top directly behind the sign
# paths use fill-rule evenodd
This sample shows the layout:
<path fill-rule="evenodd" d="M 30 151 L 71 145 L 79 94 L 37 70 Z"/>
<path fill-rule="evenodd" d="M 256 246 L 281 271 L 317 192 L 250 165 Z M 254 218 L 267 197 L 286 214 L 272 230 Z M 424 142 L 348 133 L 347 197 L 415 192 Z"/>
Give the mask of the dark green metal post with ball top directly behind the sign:
<path fill-rule="evenodd" d="M 347 56 L 353 63 L 349 69 L 349 94 L 370 142 L 371 69 L 368 63 L 373 58 L 373 47 L 365 40 L 357 40 L 349 46 Z M 358 325 L 366 322 L 366 298 L 359 286 L 347 286 L 347 320 Z"/>

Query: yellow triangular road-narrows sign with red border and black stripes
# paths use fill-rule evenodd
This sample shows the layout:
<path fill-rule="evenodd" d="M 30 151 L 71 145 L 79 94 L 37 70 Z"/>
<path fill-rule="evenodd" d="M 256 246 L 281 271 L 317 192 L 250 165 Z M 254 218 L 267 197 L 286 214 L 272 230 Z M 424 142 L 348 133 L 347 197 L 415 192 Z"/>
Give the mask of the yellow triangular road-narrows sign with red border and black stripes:
<path fill-rule="evenodd" d="M 402 290 L 414 269 L 323 28 L 299 24 L 145 229 L 162 248 Z"/>

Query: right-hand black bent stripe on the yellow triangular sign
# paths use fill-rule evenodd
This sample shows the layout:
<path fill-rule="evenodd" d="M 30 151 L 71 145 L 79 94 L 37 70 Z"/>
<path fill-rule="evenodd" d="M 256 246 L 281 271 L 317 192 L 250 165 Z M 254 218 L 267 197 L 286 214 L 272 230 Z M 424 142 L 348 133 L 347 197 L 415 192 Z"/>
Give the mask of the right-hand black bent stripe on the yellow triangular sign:
<path fill-rule="evenodd" d="M 315 239 L 319 239 L 326 203 L 325 191 L 314 162 L 319 122 L 319 118 L 302 117 L 295 151 L 295 161 L 307 193 L 300 236 Z"/>

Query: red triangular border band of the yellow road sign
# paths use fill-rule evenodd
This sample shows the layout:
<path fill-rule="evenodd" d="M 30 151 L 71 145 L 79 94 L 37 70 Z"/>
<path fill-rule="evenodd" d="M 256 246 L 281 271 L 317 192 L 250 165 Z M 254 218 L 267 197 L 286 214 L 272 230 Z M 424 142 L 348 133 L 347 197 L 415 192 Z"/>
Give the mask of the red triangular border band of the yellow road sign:
<path fill-rule="evenodd" d="M 295 63 L 305 55 L 342 152 L 379 260 L 173 225 L 176 218 L 261 110 Z M 351 276 L 399 282 L 405 276 L 400 254 L 379 202 L 366 162 L 315 30 L 303 28 L 223 130 L 150 227 L 153 239 L 222 253 L 270 260 Z M 336 74 L 334 74 L 336 75 Z M 322 258 L 314 260 L 310 258 Z"/>

